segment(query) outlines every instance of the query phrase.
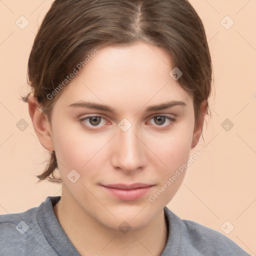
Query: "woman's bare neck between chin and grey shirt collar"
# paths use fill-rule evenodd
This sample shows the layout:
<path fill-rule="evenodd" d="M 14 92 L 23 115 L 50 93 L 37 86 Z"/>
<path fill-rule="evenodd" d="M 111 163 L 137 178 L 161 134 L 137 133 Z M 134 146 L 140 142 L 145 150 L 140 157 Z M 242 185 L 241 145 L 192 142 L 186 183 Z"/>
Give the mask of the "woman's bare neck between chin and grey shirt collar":
<path fill-rule="evenodd" d="M 53 211 L 81 255 L 160 255 L 164 249 L 167 227 L 163 210 L 146 226 L 122 233 L 103 225 L 73 201 L 66 200 L 62 190 Z"/>

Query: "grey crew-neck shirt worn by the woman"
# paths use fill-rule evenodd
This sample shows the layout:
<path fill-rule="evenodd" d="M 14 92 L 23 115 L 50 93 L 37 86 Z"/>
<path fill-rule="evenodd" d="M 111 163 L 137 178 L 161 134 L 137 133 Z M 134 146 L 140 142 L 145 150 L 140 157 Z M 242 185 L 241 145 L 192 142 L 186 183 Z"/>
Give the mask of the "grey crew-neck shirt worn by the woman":
<path fill-rule="evenodd" d="M 0 256 L 80 256 L 54 214 L 53 205 L 59 199 L 60 196 L 48 196 L 37 207 L 0 215 Z M 167 207 L 164 215 L 168 239 L 160 256 L 249 255 L 225 235 L 182 220 Z"/>

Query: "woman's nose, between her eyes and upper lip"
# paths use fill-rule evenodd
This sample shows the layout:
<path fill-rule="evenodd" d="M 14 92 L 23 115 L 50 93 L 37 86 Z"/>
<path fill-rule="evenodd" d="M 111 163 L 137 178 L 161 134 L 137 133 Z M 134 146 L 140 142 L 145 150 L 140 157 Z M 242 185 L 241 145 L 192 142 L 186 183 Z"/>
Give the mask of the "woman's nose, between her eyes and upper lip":
<path fill-rule="evenodd" d="M 112 142 L 112 165 L 114 168 L 124 172 L 134 172 L 145 167 L 147 148 L 141 141 L 134 125 L 131 125 L 126 131 L 117 127 L 117 134 Z"/>

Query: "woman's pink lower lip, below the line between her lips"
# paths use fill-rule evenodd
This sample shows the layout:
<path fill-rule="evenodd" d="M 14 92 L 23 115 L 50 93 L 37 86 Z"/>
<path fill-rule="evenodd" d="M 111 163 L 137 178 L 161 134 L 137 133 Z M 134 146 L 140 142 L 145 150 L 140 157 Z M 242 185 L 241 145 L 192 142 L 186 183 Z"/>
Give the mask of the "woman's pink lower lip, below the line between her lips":
<path fill-rule="evenodd" d="M 135 189 L 117 189 L 107 186 L 102 187 L 118 199 L 133 201 L 139 199 L 144 194 L 146 194 L 153 187 L 153 185 L 147 187 L 139 187 Z"/>

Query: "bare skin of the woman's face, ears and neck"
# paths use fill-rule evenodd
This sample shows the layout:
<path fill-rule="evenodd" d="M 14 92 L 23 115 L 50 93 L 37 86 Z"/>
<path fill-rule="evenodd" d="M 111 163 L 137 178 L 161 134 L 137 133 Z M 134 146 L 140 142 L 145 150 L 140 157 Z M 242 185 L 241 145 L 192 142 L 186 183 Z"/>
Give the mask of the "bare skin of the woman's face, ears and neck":
<path fill-rule="evenodd" d="M 174 66 L 163 49 L 141 41 L 98 49 L 62 89 L 51 125 L 36 99 L 29 98 L 34 130 L 44 148 L 55 150 L 63 180 L 54 213 L 81 255 L 160 255 L 167 239 L 163 208 L 180 187 L 185 172 L 154 202 L 148 197 L 187 162 L 201 135 L 203 119 L 194 127 L 193 99 L 169 75 Z M 68 106 L 80 100 L 108 105 L 116 114 Z M 186 106 L 145 111 L 171 100 L 183 101 Z M 204 116 L 205 102 L 201 112 Z M 89 118 L 79 121 L 99 114 L 104 118 L 94 126 Z M 153 117 L 159 115 L 175 121 L 157 122 Z M 118 126 L 123 118 L 131 123 L 126 131 Z M 72 169 L 80 175 L 74 183 L 67 178 Z M 101 186 L 135 182 L 154 186 L 132 201 L 117 199 Z M 118 229 L 123 221 L 131 227 L 126 233 Z"/>

